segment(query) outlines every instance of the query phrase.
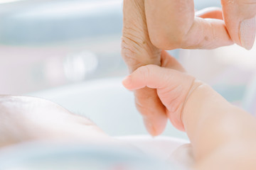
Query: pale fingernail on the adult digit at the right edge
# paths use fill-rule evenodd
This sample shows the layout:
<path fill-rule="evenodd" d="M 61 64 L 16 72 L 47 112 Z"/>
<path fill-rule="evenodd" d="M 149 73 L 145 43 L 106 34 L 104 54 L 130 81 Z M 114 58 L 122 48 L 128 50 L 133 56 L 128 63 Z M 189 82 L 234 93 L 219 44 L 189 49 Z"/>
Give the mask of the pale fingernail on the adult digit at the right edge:
<path fill-rule="evenodd" d="M 245 19 L 240 23 L 240 41 L 242 47 L 250 50 L 255 42 L 256 20 L 255 17 Z"/>

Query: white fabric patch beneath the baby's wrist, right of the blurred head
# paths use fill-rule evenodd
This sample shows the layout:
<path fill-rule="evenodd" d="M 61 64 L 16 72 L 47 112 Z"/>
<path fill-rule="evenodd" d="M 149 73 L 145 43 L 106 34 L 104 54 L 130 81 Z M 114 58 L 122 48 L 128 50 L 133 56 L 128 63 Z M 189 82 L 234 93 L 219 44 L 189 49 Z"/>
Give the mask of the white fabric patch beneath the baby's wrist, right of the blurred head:
<path fill-rule="evenodd" d="M 189 141 L 175 137 L 151 137 L 149 135 L 122 136 L 115 138 L 164 161 L 171 160 L 182 166 L 186 166 L 186 168 L 193 164 L 193 155 Z"/>

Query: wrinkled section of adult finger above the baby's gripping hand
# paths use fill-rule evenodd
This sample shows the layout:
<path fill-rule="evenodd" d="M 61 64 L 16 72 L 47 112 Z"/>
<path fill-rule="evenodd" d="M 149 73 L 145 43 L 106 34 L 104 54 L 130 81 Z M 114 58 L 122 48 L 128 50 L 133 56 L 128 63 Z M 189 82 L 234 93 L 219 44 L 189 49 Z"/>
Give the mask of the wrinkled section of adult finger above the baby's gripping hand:
<path fill-rule="evenodd" d="M 124 0 L 123 13 L 122 57 L 130 72 L 146 64 L 160 65 L 161 50 L 150 41 L 144 0 Z"/>

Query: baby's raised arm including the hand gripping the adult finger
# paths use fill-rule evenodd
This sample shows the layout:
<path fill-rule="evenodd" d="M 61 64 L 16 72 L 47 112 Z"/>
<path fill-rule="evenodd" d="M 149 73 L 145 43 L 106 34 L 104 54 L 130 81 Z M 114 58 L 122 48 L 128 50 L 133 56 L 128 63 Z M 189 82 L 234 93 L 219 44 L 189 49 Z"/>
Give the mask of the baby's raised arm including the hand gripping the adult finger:
<path fill-rule="evenodd" d="M 195 169 L 256 169 L 255 118 L 207 84 L 169 68 L 140 67 L 123 84 L 129 90 L 157 90 L 171 123 L 191 140 Z"/>

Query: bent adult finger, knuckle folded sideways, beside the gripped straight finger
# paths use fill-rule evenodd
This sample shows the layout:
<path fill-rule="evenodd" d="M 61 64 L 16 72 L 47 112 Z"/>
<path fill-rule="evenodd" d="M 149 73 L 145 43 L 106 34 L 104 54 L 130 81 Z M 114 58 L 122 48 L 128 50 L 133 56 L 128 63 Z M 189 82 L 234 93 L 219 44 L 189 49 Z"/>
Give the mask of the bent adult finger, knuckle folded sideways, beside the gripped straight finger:
<path fill-rule="evenodd" d="M 193 0 L 145 0 L 151 42 L 160 49 L 204 48 L 232 45 L 225 23 L 194 16 Z"/>

